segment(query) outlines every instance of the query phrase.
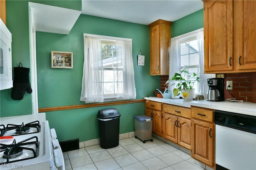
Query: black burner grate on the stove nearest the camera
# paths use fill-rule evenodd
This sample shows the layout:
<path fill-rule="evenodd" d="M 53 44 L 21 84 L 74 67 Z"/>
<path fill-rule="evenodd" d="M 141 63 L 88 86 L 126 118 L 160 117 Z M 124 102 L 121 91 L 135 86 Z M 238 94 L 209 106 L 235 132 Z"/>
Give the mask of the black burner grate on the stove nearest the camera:
<path fill-rule="evenodd" d="M 24 145 L 34 145 L 35 149 L 23 147 Z M 30 137 L 30 138 L 25 139 L 24 141 L 20 141 L 18 143 L 16 143 L 16 140 L 14 139 L 12 144 L 10 144 L 10 145 L 0 143 L 0 152 L 4 152 L 3 158 L 6 158 L 6 162 L 1 162 L 1 165 L 12 163 L 12 162 L 18 162 L 21 160 L 28 160 L 28 159 L 36 158 L 38 156 L 38 149 L 39 148 L 38 148 L 38 137 L 37 136 Z M 10 158 L 15 158 L 15 157 L 22 155 L 23 150 L 32 151 L 33 156 L 30 156 L 28 158 L 12 160 L 12 161 L 9 160 Z M 16 152 L 16 151 L 18 151 L 18 152 Z"/>

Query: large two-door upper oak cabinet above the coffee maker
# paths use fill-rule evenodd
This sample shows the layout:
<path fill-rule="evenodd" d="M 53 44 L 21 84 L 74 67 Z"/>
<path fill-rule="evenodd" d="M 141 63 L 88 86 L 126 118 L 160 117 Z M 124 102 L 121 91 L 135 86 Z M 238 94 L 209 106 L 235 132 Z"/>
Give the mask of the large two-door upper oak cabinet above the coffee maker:
<path fill-rule="evenodd" d="M 256 71 L 255 18 L 254 0 L 204 1 L 206 73 Z"/>

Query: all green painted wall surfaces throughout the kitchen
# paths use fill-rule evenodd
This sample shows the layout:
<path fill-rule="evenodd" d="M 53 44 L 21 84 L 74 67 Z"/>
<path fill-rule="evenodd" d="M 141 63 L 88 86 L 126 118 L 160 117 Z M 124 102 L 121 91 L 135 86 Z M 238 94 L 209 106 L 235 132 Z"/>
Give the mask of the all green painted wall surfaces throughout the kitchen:
<path fill-rule="evenodd" d="M 70 1 L 32 1 L 78 9 Z M 24 67 L 30 67 L 28 1 L 7 0 L 7 27 L 12 33 L 12 66 L 21 61 Z M 202 11 L 191 14 L 172 23 L 172 37 L 202 27 Z M 188 18 L 188 19 L 187 19 Z M 186 22 L 185 26 L 182 22 Z M 182 26 L 181 26 L 182 25 Z M 186 27 L 186 29 L 180 29 Z M 38 77 L 38 106 L 57 107 L 84 104 L 80 102 L 82 67 L 83 67 L 83 33 L 132 38 L 132 55 L 137 99 L 153 95 L 153 90 L 160 88 L 160 76 L 149 73 L 149 29 L 147 25 L 110 20 L 94 16 L 80 15 L 68 35 L 36 32 L 36 55 Z M 139 51 L 145 55 L 145 66 L 137 66 Z M 73 68 L 51 68 L 51 51 L 72 51 Z M 32 113 L 31 94 L 25 93 L 20 101 L 12 100 L 11 89 L 0 91 L 0 117 Z M 46 119 L 51 128 L 55 128 L 59 141 L 79 138 L 87 141 L 98 138 L 98 110 L 117 108 L 121 114 L 120 133 L 134 131 L 134 115 L 144 114 L 144 103 L 122 104 L 107 107 L 90 107 L 63 111 L 50 111 Z"/>

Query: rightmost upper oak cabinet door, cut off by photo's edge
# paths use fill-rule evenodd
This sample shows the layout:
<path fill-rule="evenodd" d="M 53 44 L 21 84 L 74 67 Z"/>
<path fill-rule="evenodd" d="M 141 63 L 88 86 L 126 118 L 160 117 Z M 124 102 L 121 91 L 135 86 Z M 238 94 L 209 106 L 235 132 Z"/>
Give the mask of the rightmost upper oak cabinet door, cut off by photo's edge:
<path fill-rule="evenodd" d="M 234 6 L 237 10 L 234 15 L 237 21 L 234 45 L 238 46 L 234 50 L 237 52 L 235 57 L 238 69 L 256 71 L 256 1 L 236 1 Z"/>

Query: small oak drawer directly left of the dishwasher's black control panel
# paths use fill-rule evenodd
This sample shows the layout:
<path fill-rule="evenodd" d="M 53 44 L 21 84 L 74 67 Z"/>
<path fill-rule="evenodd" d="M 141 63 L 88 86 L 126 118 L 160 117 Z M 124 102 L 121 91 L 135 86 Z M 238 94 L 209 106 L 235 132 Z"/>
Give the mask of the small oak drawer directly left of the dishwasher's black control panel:
<path fill-rule="evenodd" d="M 191 115 L 193 118 L 213 122 L 213 110 L 200 107 L 191 107 Z"/>

